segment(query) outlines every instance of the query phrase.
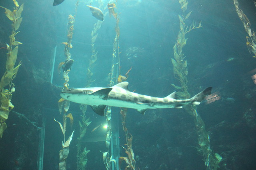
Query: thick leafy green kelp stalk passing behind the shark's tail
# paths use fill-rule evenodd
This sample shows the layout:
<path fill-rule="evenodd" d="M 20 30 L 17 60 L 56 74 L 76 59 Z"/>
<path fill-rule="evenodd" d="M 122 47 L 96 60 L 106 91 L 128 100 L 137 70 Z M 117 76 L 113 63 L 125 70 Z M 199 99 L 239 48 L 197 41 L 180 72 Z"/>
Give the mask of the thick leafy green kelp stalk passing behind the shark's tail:
<path fill-rule="evenodd" d="M 185 59 L 182 48 L 186 45 L 187 38 L 185 35 L 194 30 L 196 28 L 200 28 L 201 22 L 196 26 L 193 22 L 190 27 L 186 26 L 185 21 L 189 18 L 191 12 L 185 15 L 188 1 L 187 0 L 179 0 L 181 5 L 181 9 L 183 11 L 182 16 L 179 15 L 180 20 L 180 31 L 178 33 L 177 42 L 175 43 L 174 50 L 174 59 L 172 58 L 172 64 L 174 66 L 174 77 L 180 81 L 181 87 L 178 87 L 172 84 L 176 89 L 181 90 L 181 92 L 176 93 L 180 98 L 190 98 L 190 94 L 188 93 L 188 68 L 187 68 L 187 60 Z M 200 115 L 196 111 L 196 107 L 193 105 L 186 105 L 184 107 L 186 111 L 192 115 L 194 118 L 194 123 L 196 125 L 196 133 L 198 135 L 198 152 L 203 154 L 204 162 L 207 170 L 216 170 L 218 168 L 218 164 L 222 160 L 222 157 L 212 151 L 210 147 L 210 138 L 208 132 L 206 132 L 204 121 L 200 117 Z"/>

